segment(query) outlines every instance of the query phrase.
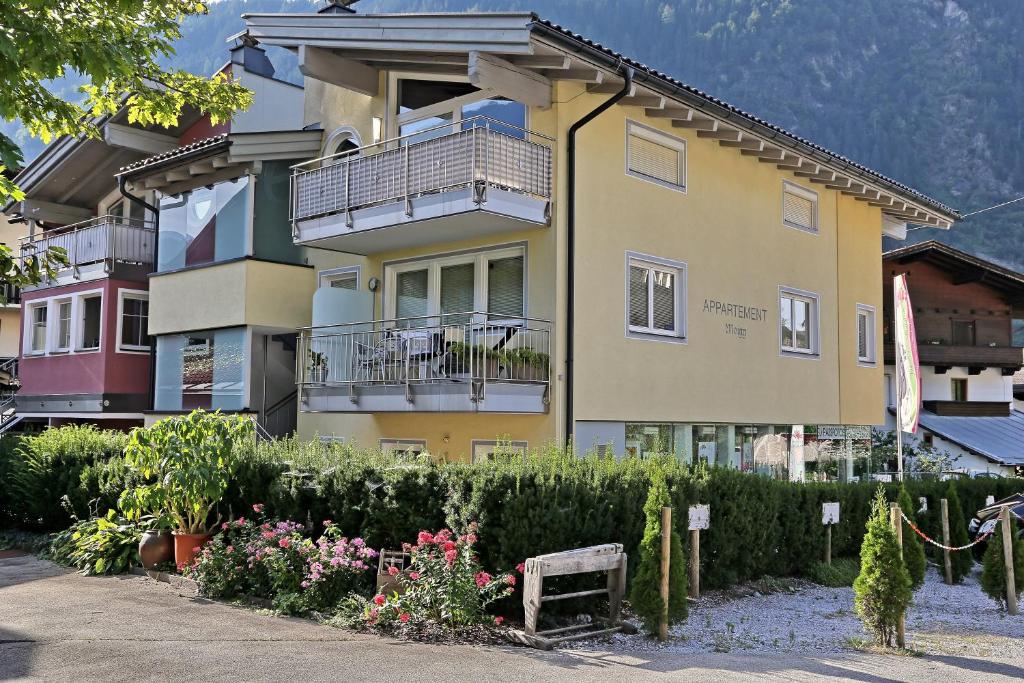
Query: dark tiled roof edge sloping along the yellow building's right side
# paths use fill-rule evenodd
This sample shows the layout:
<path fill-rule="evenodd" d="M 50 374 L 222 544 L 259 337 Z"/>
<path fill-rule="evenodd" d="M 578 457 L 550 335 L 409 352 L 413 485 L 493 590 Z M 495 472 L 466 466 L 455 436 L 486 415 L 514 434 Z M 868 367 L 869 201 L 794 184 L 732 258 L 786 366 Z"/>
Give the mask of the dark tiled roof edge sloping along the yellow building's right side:
<path fill-rule="evenodd" d="M 814 150 L 815 152 L 818 152 L 818 153 L 820 153 L 822 155 L 825 155 L 828 158 L 829 162 L 833 163 L 833 164 L 838 164 L 839 166 L 842 166 L 842 167 L 845 167 L 845 168 L 849 169 L 851 172 L 856 172 L 856 173 L 858 173 L 860 175 L 866 176 L 867 178 L 870 178 L 870 179 L 879 182 L 880 184 L 889 185 L 893 189 L 898 190 L 900 194 L 903 194 L 903 195 L 906 195 L 908 197 L 911 197 L 911 198 L 920 201 L 922 204 L 925 204 L 925 205 L 931 207 L 932 209 L 934 209 L 936 211 L 939 211 L 939 212 L 941 212 L 943 214 L 946 214 L 949 217 L 952 217 L 952 218 L 959 218 L 961 217 L 959 212 L 957 212 L 952 207 L 946 206 L 945 204 L 939 202 L 938 200 L 932 199 L 931 197 L 928 197 L 927 195 L 925 195 L 923 193 L 920 193 L 916 189 L 914 189 L 914 188 L 912 188 L 912 187 L 910 187 L 908 185 L 904 185 L 903 183 L 899 182 L 898 180 L 890 178 L 890 177 L 888 177 L 886 175 L 883 175 L 882 173 L 879 173 L 878 171 L 874 171 L 874 170 L 872 170 L 872 169 L 870 169 L 870 168 L 868 168 L 866 166 L 863 166 L 862 164 L 858 164 L 857 162 L 855 162 L 855 161 L 853 161 L 851 159 L 848 159 L 848 158 L 844 157 L 843 155 L 840 155 L 840 154 L 837 154 L 835 152 L 831 152 L 830 150 L 827 150 L 827 148 L 825 148 L 825 147 L 823 147 L 823 146 L 821 146 L 819 144 L 815 144 L 814 142 L 811 142 L 808 139 L 805 139 L 803 137 L 800 137 L 799 135 L 791 133 L 790 131 L 785 130 L 784 128 L 776 126 L 775 124 L 770 123 L 768 121 L 765 121 L 764 119 L 760 119 L 760 118 L 756 117 L 755 115 L 750 114 L 749 112 L 744 112 L 743 110 L 741 110 L 741 109 L 739 109 L 737 106 L 733 106 L 732 104 L 730 104 L 730 103 L 728 103 L 728 102 L 726 102 L 726 101 L 724 101 L 722 99 L 719 99 L 718 97 L 714 97 L 712 95 L 709 95 L 708 93 L 706 93 L 706 92 L 703 92 L 701 90 L 698 90 L 697 88 L 694 88 L 693 86 L 687 85 L 687 84 L 683 83 L 682 81 L 679 81 L 676 78 L 674 78 L 674 77 L 672 77 L 672 76 L 670 76 L 670 75 L 668 75 L 668 74 L 666 74 L 664 72 L 659 72 L 656 69 L 652 69 L 652 68 L 648 67 L 647 65 L 644 65 L 644 63 L 641 63 L 641 62 L 636 61 L 634 59 L 631 59 L 631 58 L 627 57 L 626 55 L 624 55 L 624 54 L 622 54 L 620 52 L 615 52 L 614 50 L 612 50 L 610 48 L 607 48 L 607 47 L 601 45 L 600 43 L 596 43 L 596 42 L 590 40 L 589 38 L 581 36 L 580 34 L 577 34 L 577 33 L 572 33 L 568 29 L 565 29 L 565 28 L 563 28 L 563 27 L 561 27 L 561 26 L 559 26 L 557 24 L 554 24 L 554 23 L 549 22 L 547 19 L 543 19 L 540 16 L 538 16 L 537 14 L 534 14 L 534 23 L 535 23 L 535 26 L 537 26 L 537 27 L 541 27 L 542 29 L 544 29 L 544 28 L 549 29 L 550 31 L 552 31 L 552 32 L 560 35 L 563 38 L 567 38 L 567 39 L 569 39 L 571 41 L 574 41 L 574 42 L 578 42 L 578 43 L 583 43 L 584 45 L 587 45 L 587 46 L 589 46 L 589 47 L 591 47 L 591 48 L 593 48 L 595 50 L 603 52 L 604 54 L 606 54 L 608 57 L 611 57 L 612 59 L 616 59 L 616 60 L 621 61 L 624 65 L 628 65 L 630 67 L 633 67 L 633 69 L 636 70 L 636 71 L 642 72 L 643 74 L 646 74 L 647 76 L 653 77 L 655 79 L 655 81 L 654 81 L 654 83 L 651 83 L 651 85 L 655 85 L 657 83 L 657 81 L 662 81 L 664 86 L 670 86 L 668 88 L 663 88 L 663 89 L 666 90 L 666 94 L 668 94 L 670 96 L 673 95 L 673 94 L 676 94 L 676 93 L 672 92 L 672 88 L 673 87 L 674 88 L 678 88 L 679 90 L 682 90 L 684 93 L 686 93 L 686 94 L 688 94 L 688 95 L 690 95 L 692 97 L 695 97 L 698 100 L 701 100 L 703 102 L 707 102 L 707 103 L 713 104 L 715 106 L 721 108 L 721 109 L 725 110 L 728 114 L 731 114 L 731 115 L 733 115 L 735 117 L 739 117 L 741 119 L 745 119 L 748 122 L 756 124 L 758 126 L 763 126 L 763 127 L 769 129 L 770 131 L 772 131 L 774 133 L 777 133 L 779 135 L 785 136 L 785 137 L 790 138 L 791 140 L 793 140 L 795 142 L 798 142 L 798 143 L 800 143 L 802 145 L 810 147 L 811 150 Z"/>

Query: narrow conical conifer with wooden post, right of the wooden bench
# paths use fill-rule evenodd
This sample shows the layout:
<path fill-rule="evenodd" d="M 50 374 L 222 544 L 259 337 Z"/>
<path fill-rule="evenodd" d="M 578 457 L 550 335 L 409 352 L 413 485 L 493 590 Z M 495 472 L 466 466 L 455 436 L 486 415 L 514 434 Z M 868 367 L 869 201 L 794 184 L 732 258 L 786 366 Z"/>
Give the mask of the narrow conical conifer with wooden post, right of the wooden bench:
<path fill-rule="evenodd" d="M 643 506 L 646 523 L 639 548 L 640 563 L 633 577 L 633 586 L 630 588 L 630 605 L 651 635 L 657 634 L 662 608 L 665 605 L 660 592 L 662 508 L 670 505 L 670 501 L 665 474 L 659 469 L 655 470 L 651 475 L 647 502 Z M 674 511 L 674 514 L 678 514 L 678 512 Z M 675 624 L 686 618 L 687 590 L 686 559 L 675 523 L 672 525 L 669 559 L 671 563 L 669 567 L 669 624 Z"/>

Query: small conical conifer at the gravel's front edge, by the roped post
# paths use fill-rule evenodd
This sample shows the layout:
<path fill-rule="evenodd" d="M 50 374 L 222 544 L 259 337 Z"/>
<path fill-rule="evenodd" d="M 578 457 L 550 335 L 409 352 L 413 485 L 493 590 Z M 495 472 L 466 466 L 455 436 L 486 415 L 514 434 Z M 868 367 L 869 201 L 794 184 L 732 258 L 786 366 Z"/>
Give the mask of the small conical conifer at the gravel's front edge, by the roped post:
<path fill-rule="evenodd" d="M 860 546 L 860 573 L 853 582 L 854 608 L 864 626 L 884 647 L 894 647 L 896 627 L 913 595 L 896 531 L 889 524 L 885 492 L 879 492 Z"/>

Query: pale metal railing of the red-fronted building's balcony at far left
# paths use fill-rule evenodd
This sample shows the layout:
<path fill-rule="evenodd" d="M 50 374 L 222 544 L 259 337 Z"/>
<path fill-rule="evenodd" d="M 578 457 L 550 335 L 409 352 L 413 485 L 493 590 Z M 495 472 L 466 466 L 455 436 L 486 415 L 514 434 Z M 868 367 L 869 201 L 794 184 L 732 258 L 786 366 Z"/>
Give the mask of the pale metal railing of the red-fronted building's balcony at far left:
<path fill-rule="evenodd" d="M 69 267 L 102 263 L 108 271 L 117 263 L 153 267 L 157 231 L 151 221 L 98 216 L 22 239 L 22 259 L 42 257 L 51 247 L 68 254 Z"/>

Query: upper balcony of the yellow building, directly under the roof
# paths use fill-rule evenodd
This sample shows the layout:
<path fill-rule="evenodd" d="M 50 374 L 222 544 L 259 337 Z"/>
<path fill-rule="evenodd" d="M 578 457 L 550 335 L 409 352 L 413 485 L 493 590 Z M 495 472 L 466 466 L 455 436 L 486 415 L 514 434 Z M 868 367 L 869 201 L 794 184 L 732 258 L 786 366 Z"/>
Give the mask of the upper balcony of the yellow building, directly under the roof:
<path fill-rule="evenodd" d="M 372 254 L 546 226 L 550 142 L 474 117 L 300 164 L 293 237 Z"/>

